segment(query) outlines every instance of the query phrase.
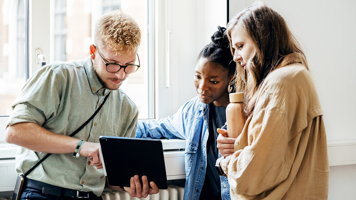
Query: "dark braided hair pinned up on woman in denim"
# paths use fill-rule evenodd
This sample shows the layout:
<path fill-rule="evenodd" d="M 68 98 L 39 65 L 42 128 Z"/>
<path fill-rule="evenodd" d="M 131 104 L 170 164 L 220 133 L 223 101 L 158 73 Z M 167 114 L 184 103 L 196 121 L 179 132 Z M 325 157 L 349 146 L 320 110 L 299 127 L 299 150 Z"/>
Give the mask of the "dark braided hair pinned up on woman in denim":
<path fill-rule="evenodd" d="M 206 58 L 208 61 L 220 64 L 228 69 L 229 75 L 232 75 L 235 74 L 236 63 L 231 55 L 230 42 L 225 30 L 225 27 L 218 26 L 218 31 L 211 36 L 210 44 L 200 51 L 197 61 L 202 57 Z"/>

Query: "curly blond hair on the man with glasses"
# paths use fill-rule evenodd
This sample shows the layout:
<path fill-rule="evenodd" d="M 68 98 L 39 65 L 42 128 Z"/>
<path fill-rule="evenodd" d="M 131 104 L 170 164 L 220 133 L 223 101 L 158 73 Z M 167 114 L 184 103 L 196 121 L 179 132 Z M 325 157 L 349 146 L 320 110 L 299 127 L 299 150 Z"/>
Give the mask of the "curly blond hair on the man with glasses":
<path fill-rule="evenodd" d="M 130 54 L 141 43 L 141 30 L 137 22 L 121 10 L 102 15 L 95 23 L 96 46 L 112 50 L 115 55 Z"/>

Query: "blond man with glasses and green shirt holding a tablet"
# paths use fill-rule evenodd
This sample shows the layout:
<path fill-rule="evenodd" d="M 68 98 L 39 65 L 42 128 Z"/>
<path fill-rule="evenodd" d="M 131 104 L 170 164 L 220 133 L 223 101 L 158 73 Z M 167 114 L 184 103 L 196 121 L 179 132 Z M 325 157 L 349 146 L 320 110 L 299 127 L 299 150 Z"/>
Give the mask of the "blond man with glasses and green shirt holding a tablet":
<path fill-rule="evenodd" d="M 95 24 L 88 58 L 46 65 L 26 82 L 5 132 L 6 142 L 21 146 L 16 171 L 26 174 L 52 155 L 26 176 L 21 199 L 101 199 L 106 178 L 99 136 L 136 133 L 138 109 L 119 87 L 140 67 L 140 42 L 140 28 L 131 16 L 118 10 L 107 13 Z M 138 198 L 158 193 L 145 176 L 142 181 L 141 187 L 136 175 L 125 190 Z"/>

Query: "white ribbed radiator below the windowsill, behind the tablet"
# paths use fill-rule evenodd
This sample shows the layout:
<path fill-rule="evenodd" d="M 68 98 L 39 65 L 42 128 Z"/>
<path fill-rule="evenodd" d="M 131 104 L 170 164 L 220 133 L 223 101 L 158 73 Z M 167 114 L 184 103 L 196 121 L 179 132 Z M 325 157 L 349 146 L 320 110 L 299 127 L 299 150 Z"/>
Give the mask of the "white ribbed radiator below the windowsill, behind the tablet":
<path fill-rule="evenodd" d="M 169 185 L 167 190 L 159 190 L 158 194 L 150 194 L 140 200 L 183 200 L 184 188 Z M 138 200 L 136 197 L 130 197 L 126 191 L 104 191 L 101 194 L 103 200 Z"/>

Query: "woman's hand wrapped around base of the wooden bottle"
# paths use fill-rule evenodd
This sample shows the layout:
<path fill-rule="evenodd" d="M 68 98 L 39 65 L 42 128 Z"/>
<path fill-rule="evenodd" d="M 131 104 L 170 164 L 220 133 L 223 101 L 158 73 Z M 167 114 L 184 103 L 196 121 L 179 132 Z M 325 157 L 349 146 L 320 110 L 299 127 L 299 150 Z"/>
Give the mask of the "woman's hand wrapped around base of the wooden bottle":
<path fill-rule="evenodd" d="M 232 155 L 232 153 L 234 153 L 234 143 L 236 138 L 227 137 L 227 130 L 225 129 L 217 130 L 219 136 L 218 139 L 216 139 L 216 141 L 218 142 L 218 145 L 216 145 L 216 147 L 218 147 L 221 156 L 226 157 Z"/>

